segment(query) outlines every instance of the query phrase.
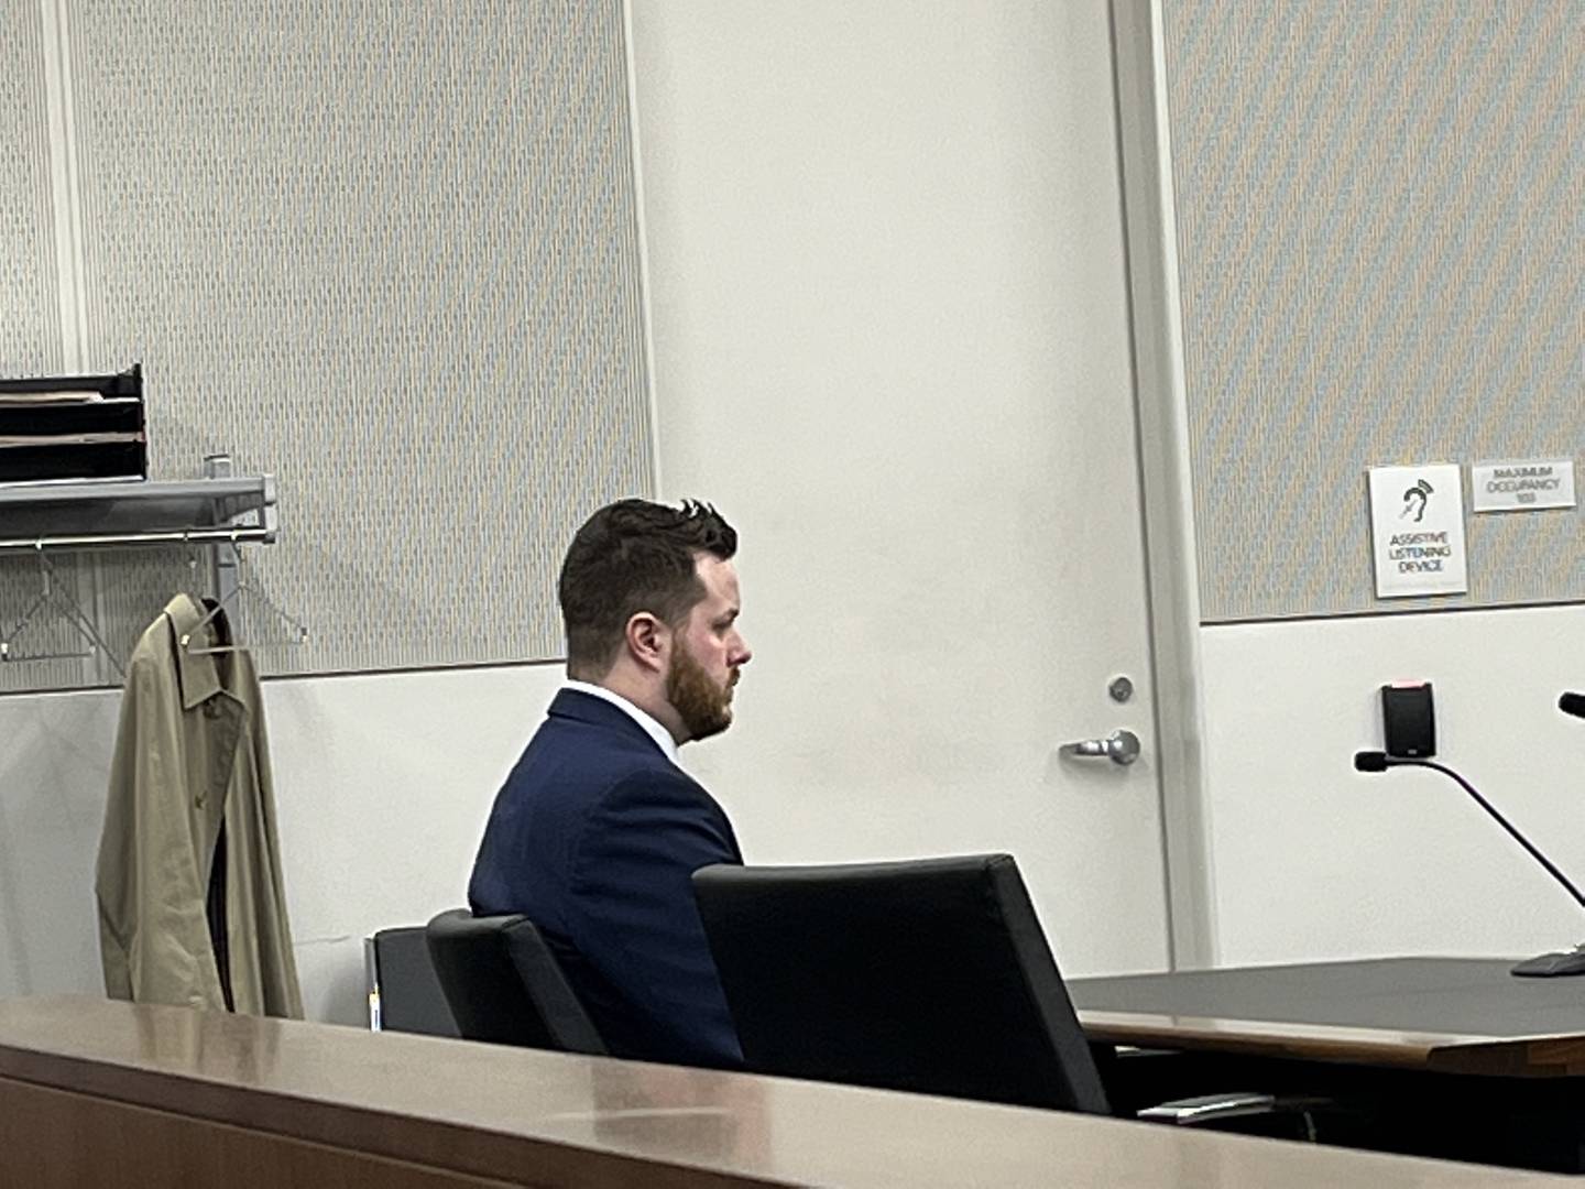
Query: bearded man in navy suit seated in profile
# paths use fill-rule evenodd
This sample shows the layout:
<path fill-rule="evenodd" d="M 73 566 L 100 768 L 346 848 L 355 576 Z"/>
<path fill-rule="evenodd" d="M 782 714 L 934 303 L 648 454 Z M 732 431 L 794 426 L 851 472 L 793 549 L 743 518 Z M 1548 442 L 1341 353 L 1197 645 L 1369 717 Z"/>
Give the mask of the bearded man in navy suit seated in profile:
<path fill-rule="evenodd" d="M 496 796 L 468 899 L 526 913 L 612 1054 L 742 1064 L 693 874 L 742 862 L 726 813 L 677 766 L 724 731 L 750 652 L 712 507 L 623 499 L 561 566 L 567 682 Z"/>

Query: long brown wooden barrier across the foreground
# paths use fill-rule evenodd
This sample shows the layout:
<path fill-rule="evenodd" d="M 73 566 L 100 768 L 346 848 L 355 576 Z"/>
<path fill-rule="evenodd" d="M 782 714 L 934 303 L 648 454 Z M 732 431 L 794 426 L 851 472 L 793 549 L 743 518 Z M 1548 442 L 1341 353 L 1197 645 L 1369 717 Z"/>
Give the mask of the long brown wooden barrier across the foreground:
<path fill-rule="evenodd" d="M 0 1002 L 0 1183 L 1530 1186 L 1534 1173 L 95 999 Z"/>

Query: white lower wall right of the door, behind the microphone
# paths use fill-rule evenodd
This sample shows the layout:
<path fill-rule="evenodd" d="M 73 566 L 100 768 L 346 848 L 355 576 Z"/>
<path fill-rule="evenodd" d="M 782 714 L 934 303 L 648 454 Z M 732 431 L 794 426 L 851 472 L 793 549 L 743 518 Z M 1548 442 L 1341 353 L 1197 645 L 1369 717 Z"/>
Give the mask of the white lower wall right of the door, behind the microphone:
<path fill-rule="evenodd" d="M 1585 885 L 1585 607 L 1201 633 L 1217 961 L 1528 954 L 1585 939 L 1572 899 L 1436 772 L 1354 770 L 1379 686 L 1434 685 L 1438 759 Z"/>

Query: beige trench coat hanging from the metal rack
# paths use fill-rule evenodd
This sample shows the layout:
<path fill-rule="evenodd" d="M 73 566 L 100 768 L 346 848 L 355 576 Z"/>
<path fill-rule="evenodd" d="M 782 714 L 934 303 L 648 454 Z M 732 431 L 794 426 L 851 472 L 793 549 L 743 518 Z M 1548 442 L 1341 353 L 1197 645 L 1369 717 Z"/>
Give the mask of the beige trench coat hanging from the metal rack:
<path fill-rule="evenodd" d="M 127 667 L 95 880 L 105 989 L 225 1010 L 206 916 L 223 821 L 235 1008 L 301 1018 L 258 677 L 246 652 L 181 647 L 203 615 L 178 594 Z"/>

